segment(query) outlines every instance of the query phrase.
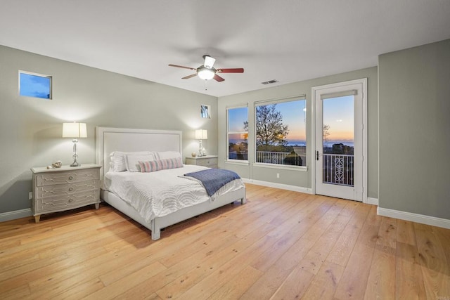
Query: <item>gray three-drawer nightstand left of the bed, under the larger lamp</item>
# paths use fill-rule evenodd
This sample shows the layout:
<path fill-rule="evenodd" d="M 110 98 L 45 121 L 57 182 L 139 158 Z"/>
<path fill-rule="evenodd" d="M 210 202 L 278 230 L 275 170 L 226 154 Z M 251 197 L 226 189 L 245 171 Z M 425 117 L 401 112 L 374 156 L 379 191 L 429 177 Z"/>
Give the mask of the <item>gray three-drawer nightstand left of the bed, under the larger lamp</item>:
<path fill-rule="evenodd" d="M 32 168 L 34 221 L 41 214 L 65 211 L 100 204 L 99 164 L 82 164 L 81 167 L 63 166 L 57 169 Z"/>

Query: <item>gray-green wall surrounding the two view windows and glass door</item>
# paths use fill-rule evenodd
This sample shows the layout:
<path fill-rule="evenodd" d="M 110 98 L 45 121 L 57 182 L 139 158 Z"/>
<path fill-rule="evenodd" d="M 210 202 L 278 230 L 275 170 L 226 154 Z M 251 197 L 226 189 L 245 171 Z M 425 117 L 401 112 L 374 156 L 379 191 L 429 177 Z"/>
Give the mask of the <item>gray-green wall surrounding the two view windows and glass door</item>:
<path fill-rule="evenodd" d="M 311 106 L 311 88 L 325 84 L 333 84 L 353 79 L 368 79 L 368 197 L 378 197 L 378 69 L 370 67 L 328 77 L 321 77 L 293 84 L 283 84 L 258 91 L 240 93 L 232 96 L 219 97 L 219 167 L 232 169 L 244 178 L 267 181 L 300 188 L 311 188 L 311 112 L 307 111 L 307 171 L 286 170 L 276 168 L 254 167 L 252 153 L 254 147 L 249 145 L 250 164 L 226 163 L 226 107 L 248 104 L 249 123 L 254 122 L 254 103 L 259 100 L 277 99 L 306 94 L 307 107 Z M 251 138 L 252 133 L 249 133 Z M 276 178 L 276 174 L 280 178 Z"/>

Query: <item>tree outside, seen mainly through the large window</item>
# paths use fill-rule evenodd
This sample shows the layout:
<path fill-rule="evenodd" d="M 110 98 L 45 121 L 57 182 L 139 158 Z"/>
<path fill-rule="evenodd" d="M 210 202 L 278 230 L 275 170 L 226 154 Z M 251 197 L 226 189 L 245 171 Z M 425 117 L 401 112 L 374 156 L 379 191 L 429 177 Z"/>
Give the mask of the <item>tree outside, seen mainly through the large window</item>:
<path fill-rule="evenodd" d="M 285 146 L 288 142 L 288 125 L 283 125 L 283 115 L 276 110 L 276 104 L 256 107 L 256 146 L 269 148 L 271 146 Z M 248 131 L 248 122 L 244 122 Z"/>

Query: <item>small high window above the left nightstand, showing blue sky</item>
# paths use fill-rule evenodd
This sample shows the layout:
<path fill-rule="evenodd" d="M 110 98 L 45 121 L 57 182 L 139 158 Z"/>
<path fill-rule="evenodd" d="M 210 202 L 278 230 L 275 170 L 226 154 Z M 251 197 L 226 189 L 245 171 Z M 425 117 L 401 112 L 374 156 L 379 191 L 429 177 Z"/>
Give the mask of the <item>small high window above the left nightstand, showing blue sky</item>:
<path fill-rule="evenodd" d="M 19 94 L 51 99 L 51 76 L 19 71 Z"/>

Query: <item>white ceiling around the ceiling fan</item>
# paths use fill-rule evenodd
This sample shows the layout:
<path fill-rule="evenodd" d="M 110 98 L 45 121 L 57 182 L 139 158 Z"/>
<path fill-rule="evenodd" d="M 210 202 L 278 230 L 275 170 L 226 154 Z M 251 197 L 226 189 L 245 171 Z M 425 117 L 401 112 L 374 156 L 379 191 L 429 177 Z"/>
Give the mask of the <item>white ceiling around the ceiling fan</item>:
<path fill-rule="evenodd" d="M 449 0 L 0 0 L 1 45 L 217 97 L 449 38 Z M 245 72 L 219 83 L 168 66 L 198 67 L 204 54 Z"/>

